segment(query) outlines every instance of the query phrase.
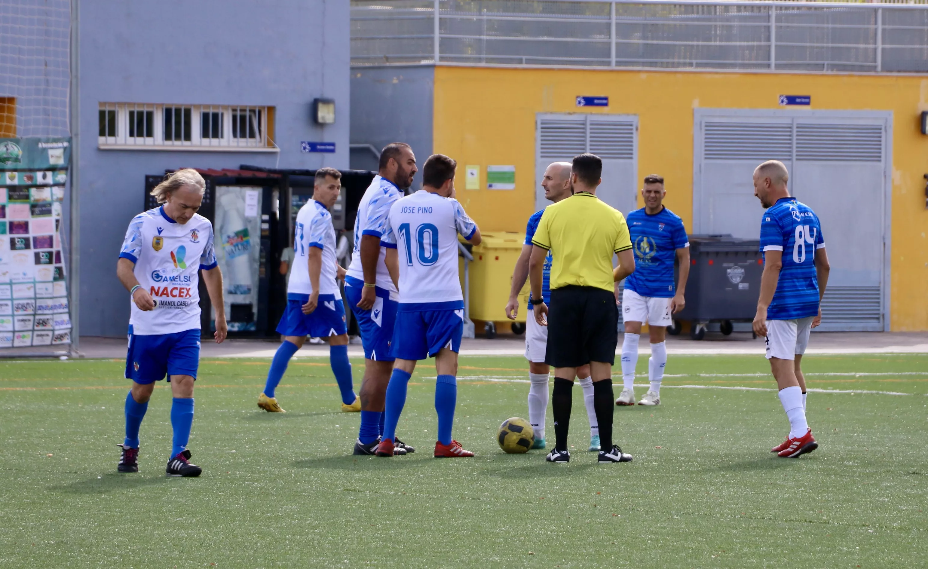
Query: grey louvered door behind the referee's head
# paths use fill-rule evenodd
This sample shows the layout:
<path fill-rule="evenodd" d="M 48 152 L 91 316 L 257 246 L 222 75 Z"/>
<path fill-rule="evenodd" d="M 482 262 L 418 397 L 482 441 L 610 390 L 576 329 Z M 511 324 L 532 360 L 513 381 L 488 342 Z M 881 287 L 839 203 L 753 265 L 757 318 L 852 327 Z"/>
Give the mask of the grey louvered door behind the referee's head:
<path fill-rule="evenodd" d="M 622 213 L 637 207 L 638 117 L 604 114 L 538 114 L 535 209 L 550 203 L 541 187 L 551 162 L 571 162 L 592 152 L 602 159 L 600 200 Z"/>

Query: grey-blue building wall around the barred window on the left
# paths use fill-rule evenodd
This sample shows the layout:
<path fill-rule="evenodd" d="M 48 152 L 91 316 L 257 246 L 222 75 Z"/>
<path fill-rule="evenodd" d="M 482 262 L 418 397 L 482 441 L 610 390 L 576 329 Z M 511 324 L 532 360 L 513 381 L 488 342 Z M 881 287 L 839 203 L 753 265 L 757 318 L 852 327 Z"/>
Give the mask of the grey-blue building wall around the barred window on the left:
<path fill-rule="evenodd" d="M 95 0 L 80 10 L 80 331 L 118 336 L 129 298 L 116 259 L 142 210 L 145 175 L 242 163 L 348 167 L 349 3 Z M 335 99 L 334 124 L 312 123 L 314 97 Z M 97 149 L 101 102 L 274 106 L 280 152 Z M 337 151 L 303 153 L 302 140 Z"/>

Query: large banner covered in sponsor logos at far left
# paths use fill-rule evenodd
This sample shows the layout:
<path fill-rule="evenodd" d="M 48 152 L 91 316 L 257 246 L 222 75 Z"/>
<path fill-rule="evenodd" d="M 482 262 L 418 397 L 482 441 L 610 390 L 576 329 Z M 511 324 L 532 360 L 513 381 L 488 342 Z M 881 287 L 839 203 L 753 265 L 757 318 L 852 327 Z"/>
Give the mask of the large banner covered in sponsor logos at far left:
<path fill-rule="evenodd" d="M 0 350 L 71 343 L 61 250 L 70 138 L 0 138 Z"/>

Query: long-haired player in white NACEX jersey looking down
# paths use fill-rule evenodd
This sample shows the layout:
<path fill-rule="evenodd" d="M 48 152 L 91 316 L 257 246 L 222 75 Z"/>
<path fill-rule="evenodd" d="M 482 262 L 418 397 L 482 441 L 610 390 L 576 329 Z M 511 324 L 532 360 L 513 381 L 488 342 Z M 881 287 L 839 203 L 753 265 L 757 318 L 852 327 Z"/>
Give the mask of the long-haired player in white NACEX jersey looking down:
<path fill-rule="evenodd" d="M 200 476 L 187 442 L 193 426 L 193 382 L 200 365 L 199 272 L 215 310 L 213 338 L 226 339 L 223 276 L 213 249 L 213 224 L 197 214 L 206 183 L 196 170 L 168 175 L 151 190 L 160 207 L 135 215 L 125 233 L 116 275 L 132 299 L 125 378 L 125 440 L 119 472 L 138 472 L 138 430 L 155 381 L 171 383 L 174 440 L 169 476 Z"/>

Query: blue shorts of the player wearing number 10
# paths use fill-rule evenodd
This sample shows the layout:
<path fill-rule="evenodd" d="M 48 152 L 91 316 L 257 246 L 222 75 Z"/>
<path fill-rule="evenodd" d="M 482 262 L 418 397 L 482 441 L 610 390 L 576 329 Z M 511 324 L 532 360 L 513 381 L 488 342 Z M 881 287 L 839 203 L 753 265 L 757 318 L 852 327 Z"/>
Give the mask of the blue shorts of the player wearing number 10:
<path fill-rule="evenodd" d="M 419 360 L 434 357 L 442 348 L 459 352 L 463 333 L 463 309 L 399 311 L 391 355 Z"/>

